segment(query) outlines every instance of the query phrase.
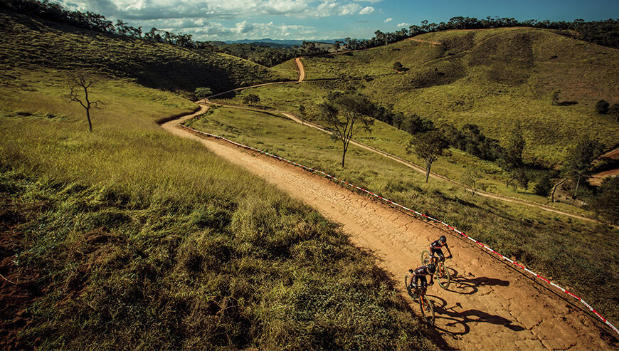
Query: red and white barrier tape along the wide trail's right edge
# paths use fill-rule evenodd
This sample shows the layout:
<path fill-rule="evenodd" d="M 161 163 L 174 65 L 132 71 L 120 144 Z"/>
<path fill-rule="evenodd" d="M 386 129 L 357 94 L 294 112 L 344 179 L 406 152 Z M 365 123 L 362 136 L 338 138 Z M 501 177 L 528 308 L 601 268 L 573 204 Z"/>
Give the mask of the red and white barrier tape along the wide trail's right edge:
<path fill-rule="evenodd" d="M 595 309 L 593 309 L 593 308 L 591 307 L 591 305 L 589 305 L 588 303 L 586 303 L 583 299 L 581 299 L 581 298 L 580 298 L 580 297 L 578 297 L 577 295 L 574 295 L 573 293 L 571 293 L 569 290 L 566 290 L 565 288 L 561 288 L 561 286 L 556 285 L 555 283 L 553 283 L 553 282 L 549 281 L 548 279 L 544 278 L 543 276 L 540 276 L 538 273 L 535 273 L 534 271 L 531 271 L 529 268 L 525 267 L 524 265 L 522 265 L 522 264 L 520 264 L 520 263 L 518 263 L 518 262 L 516 262 L 516 261 L 513 261 L 513 260 L 511 260 L 511 259 L 509 259 L 509 258 L 507 258 L 507 257 L 505 257 L 505 256 L 503 256 L 502 254 L 498 253 L 497 251 L 492 250 L 492 248 L 490 248 L 490 247 L 488 247 L 487 245 L 485 245 L 485 243 L 481 243 L 480 241 L 477 241 L 477 240 L 475 240 L 475 239 L 471 238 L 471 237 L 470 237 L 470 236 L 468 236 L 467 234 L 462 233 L 462 231 L 459 231 L 459 230 L 455 229 L 453 226 L 450 226 L 449 224 L 446 224 L 446 223 L 445 223 L 445 222 L 443 222 L 443 221 L 439 221 L 438 219 L 433 219 L 433 218 L 432 218 L 432 217 L 430 217 L 430 216 L 426 216 L 425 214 L 422 214 L 422 213 L 420 213 L 420 212 L 418 212 L 418 211 L 415 211 L 415 210 L 413 210 L 413 209 L 409 209 L 409 208 L 408 208 L 408 207 L 406 207 L 406 206 L 402 206 L 401 204 L 397 204 L 396 202 L 393 202 L 393 201 L 391 201 L 391 200 L 389 200 L 389 199 L 385 199 L 384 197 L 381 197 L 380 195 L 374 194 L 373 192 L 370 192 L 369 190 L 363 189 L 363 188 L 361 188 L 361 187 L 357 187 L 357 186 L 356 186 L 356 185 L 354 185 L 354 184 L 350 184 L 349 182 L 346 182 L 346 181 L 344 181 L 344 180 L 342 180 L 342 179 L 338 179 L 338 178 L 336 178 L 336 177 L 333 177 L 332 175 L 327 174 L 327 173 L 324 173 L 324 172 L 322 172 L 322 171 L 319 171 L 318 169 L 313 169 L 313 168 L 311 168 L 311 167 L 307 167 L 307 166 L 304 166 L 304 165 L 302 165 L 302 164 L 298 164 L 297 162 L 292 162 L 292 161 L 290 161 L 289 159 L 285 159 L 285 158 L 283 158 L 283 157 L 279 157 L 279 156 L 277 156 L 277 155 L 275 155 L 275 154 L 270 154 L 270 153 L 265 152 L 265 151 L 263 151 L 263 150 L 255 149 L 254 147 L 250 147 L 250 146 L 247 146 L 247 145 L 239 144 L 238 142 L 233 142 L 232 140 L 226 139 L 225 137 L 221 137 L 221 136 L 219 136 L 219 135 L 214 135 L 214 134 L 211 134 L 211 133 L 202 132 L 201 130 L 196 130 L 196 129 L 194 129 L 194 128 L 187 127 L 186 125 L 180 125 L 180 126 L 181 126 L 181 127 L 184 127 L 186 130 L 191 130 L 192 132 L 196 132 L 196 133 L 201 134 L 201 135 L 206 135 L 206 136 L 208 136 L 208 137 L 213 137 L 213 138 L 216 138 L 216 139 L 221 139 L 221 140 L 224 140 L 224 141 L 226 141 L 226 142 L 231 143 L 232 145 L 236 145 L 236 146 L 238 146 L 238 147 L 243 147 L 243 149 L 252 150 L 252 151 L 254 151 L 254 152 L 258 152 L 258 153 L 260 153 L 260 154 L 265 154 L 265 155 L 267 155 L 267 156 L 269 156 L 269 157 L 273 157 L 273 158 L 275 158 L 275 159 L 279 159 L 280 161 L 287 162 L 287 163 L 289 163 L 289 164 L 294 164 L 295 166 L 300 167 L 300 168 L 302 168 L 302 169 L 306 169 L 307 171 L 310 171 L 310 172 L 316 172 L 316 173 L 322 174 L 324 177 L 327 177 L 327 178 L 330 178 L 330 179 L 336 180 L 337 182 L 340 182 L 340 183 L 342 183 L 342 184 L 346 184 L 346 185 L 348 185 L 349 187 L 353 187 L 353 188 L 355 188 L 355 189 L 357 189 L 357 190 L 360 190 L 361 192 L 365 192 L 365 193 L 367 193 L 367 194 L 370 194 L 370 195 L 372 195 L 372 196 L 374 196 L 374 197 L 377 197 L 377 198 L 379 198 L 379 199 L 381 199 L 381 200 L 383 200 L 383 201 L 385 201 L 385 202 L 388 202 L 389 204 L 392 204 L 393 206 L 397 206 L 397 207 L 399 207 L 399 208 L 401 208 L 401 209 L 403 209 L 403 210 L 406 210 L 406 211 L 408 211 L 408 212 L 411 212 L 411 213 L 413 213 L 413 214 L 416 214 L 417 216 L 421 216 L 421 217 L 423 217 L 423 218 L 425 218 L 425 219 L 428 219 L 428 220 L 430 220 L 430 221 L 434 221 L 434 222 L 436 222 L 436 223 L 443 224 L 443 226 L 446 226 L 446 227 L 447 227 L 448 229 L 450 229 L 451 231 L 455 231 L 457 234 L 460 234 L 461 236 L 464 236 L 465 238 L 469 239 L 470 241 L 472 241 L 472 242 L 476 243 L 477 245 L 481 246 L 482 248 L 484 248 L 486 251 L 489 251 L 490 253 L 494 253 L 495 255 L 499 256 L 499 258 L 502 258 L 504 261 L 507 261 L 507 262 L 509 262 L 509 263 L 513 264 L 514 266 L 516 266 L 516 267 L 518 267 L 518 268 L 522 269 L 523 271 L 525 271 L 525 272 L 527 272 L 527 273 L 531 274 L 531 276 L 534 276 L 534 277 L 536 277 L 536 278 L 541 279 L 542 281 L 545 281 L 546 283 L 549 283 L 550 285 L 552 285 L 552 286 L 554 286 L 555 288 L 557 288 L 557 289 L 559 289 L 559 290 L 563 291 L 563 292 L 564 292 L 564 293 L 566 293 L 567 295 L 570 295 L 572 298 L 575 298 L 576 300 L 580 301 L 580 302 L 581 302 L 581 303 L 583 303 L 583 305 L 585 305 L 585 306 L 586 306 L 589 310 L 591 310 L 591 312 L 595 313 L 595 314 L 598 316 L 598 318 L 600 318 L 600 319 L 601 319 L 601 320 L 602 320 L 602 321 L 603 321 L 606 325 L 608 325 L 610 328 L 612 328 L 613 330 L 615 330 L 615 332 L 619 335 L 619 330 L 618 330 L 617 328 L 615 328 L 615 326 L 614 326 L 614 325 L 612 325 L 612 324 L 611 324 L 611 323 L 610 323 L 610 322 L 609 322 L 606 318 L 604 318 L 604 317 L 603 317 L 600 313 L 598 313 L 598 311 L 596 311 Z"/>

